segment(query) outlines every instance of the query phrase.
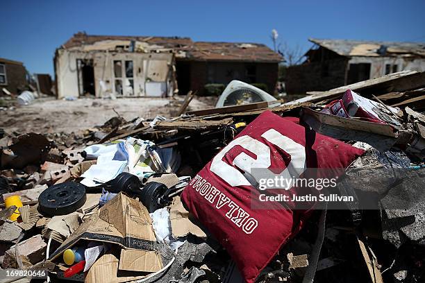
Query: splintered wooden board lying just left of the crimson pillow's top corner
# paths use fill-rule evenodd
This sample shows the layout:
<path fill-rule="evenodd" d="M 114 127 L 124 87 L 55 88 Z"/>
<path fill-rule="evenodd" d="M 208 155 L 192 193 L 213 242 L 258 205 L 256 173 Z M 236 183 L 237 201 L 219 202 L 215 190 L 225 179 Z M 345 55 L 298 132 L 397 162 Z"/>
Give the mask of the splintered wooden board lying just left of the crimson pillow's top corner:
<path fill-rule="evenodd" d="M 232 118 L 222 120 L 203 120 L 191 119 L 189 121 L 158 121 L 155 129 L 158 130 L 213 130 L 221 126 L 227 126 L 233 123 Z"/>

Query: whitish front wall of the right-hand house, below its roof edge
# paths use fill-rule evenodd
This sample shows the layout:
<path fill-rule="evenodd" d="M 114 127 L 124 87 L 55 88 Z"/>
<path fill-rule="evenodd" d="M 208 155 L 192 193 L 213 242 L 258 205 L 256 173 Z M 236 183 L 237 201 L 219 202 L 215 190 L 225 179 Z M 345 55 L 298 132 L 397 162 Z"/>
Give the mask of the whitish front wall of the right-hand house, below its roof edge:
<path fill-rule="evenodd" d="M 425 71 L 425 58 L 406 57 L 361 57 L 355 56 L 349 60 L 349 64 L 370 63 L 370 78 L 378 78 L 385 75 L 385 65 L 397 65 L 397 71 Z"/>

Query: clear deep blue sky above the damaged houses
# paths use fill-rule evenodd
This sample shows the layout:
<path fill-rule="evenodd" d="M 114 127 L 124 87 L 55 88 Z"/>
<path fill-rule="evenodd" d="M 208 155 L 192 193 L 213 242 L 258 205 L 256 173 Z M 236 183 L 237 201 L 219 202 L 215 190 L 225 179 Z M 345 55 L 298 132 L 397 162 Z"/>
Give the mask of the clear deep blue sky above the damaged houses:
<path fill-rule="evenodd" d="M 194 41 L 278 43 L 307 51 L 309 37 L 425 42 L 425 1 L 3 0 L 0 58 L 53 76 L 56 48 L 89 35 L 191 37 Z"/>

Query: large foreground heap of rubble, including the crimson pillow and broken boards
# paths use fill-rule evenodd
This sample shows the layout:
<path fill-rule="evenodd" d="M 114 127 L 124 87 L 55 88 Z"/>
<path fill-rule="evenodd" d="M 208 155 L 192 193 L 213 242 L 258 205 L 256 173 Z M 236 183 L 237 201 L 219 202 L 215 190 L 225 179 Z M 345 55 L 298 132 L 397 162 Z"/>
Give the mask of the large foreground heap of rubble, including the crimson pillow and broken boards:
<path fill-rule="evenodd" d="M 1 268 L 52 282 L 424 282 L 425 73 L 290 102 L 246 103 L 256 89 L 238 85 L 224 91 L 243 91 L 238 105 L 187 112 L 188 94 L 176 117 L 4 131 Z M 263 194 L 270 172 L 336 177 L 326 196 L 353 201 L 315 201 L 316 182 L 285 203 L 292 186 Z"/>

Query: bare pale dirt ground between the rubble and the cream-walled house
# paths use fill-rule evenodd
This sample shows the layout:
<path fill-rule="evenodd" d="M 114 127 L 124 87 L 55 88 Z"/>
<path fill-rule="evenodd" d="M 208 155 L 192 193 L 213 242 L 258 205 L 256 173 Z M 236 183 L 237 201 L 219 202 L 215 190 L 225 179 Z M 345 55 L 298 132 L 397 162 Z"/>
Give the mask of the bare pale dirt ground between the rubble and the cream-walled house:
<path fill-rule="evenodd" d="M 178 110 L 179 101 L 183 99 L 184 96 L 116 100 L 79 98 L 75 101 L 39 98 L 31 105 L 0 108 L 0 128 L 18 133 L 76 132 L 102 125 L 117 116 L 115 111 L 128 121 L 136 117 L 149 119 L 158 114 L 172 117 Z M 190 102 L 189 110 L 213 108 L 215 99 L 195 97 Z"/>

